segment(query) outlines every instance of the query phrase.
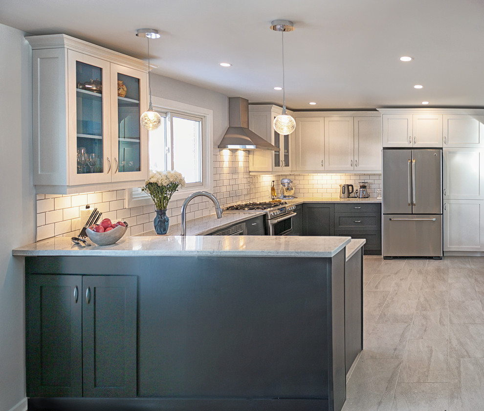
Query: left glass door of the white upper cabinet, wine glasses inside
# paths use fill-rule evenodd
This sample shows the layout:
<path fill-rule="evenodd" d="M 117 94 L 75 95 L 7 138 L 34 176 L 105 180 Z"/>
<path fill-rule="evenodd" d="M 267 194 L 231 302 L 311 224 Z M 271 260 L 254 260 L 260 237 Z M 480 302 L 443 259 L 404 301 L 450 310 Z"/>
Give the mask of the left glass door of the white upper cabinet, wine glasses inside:
<path fill-rule="evenodd" d="M 109 182 L 110 63 L 72 50 L 68 63 L 69 184 Z"/>

